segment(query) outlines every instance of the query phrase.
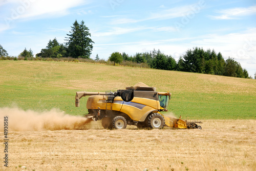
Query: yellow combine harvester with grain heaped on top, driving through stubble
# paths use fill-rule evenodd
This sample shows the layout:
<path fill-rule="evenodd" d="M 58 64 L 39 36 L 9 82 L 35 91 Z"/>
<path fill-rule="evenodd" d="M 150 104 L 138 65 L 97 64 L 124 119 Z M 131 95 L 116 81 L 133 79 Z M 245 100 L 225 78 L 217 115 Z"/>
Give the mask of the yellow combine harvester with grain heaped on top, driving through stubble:
<path fill-rule="evenodd" d="M 76 107 L 81 97 L 89 95 L 86 117 L 102 120 L 105 129 L 125 129 L 127 125 L 138 128 L 162 129 L 164 126 L 191 129 L 198 128 L 196 123 L 181 118 L 169 118 L 160 112 L 167 111 L 171 96 L 169 92 L 157 92 L 155 87 L 126 87 L 116 92 L 76 92 Z"/>

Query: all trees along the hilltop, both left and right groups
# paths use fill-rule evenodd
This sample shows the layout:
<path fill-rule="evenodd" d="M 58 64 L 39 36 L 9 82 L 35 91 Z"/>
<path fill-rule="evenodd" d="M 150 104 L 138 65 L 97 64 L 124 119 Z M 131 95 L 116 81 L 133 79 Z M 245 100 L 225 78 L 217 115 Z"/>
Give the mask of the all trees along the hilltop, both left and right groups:
<path fill-rule="evenodd" d="M 91 34 L 88 27 L 84 24 L 84 21 L 78 23 L 77 20 L 75 20 L 71 27 L 70 34 L 67 34 L 67 37 L 65 37 L 66 43 L 59 43 L 57 39 L 54 38 L 48 42 L 45 48 L 41 49 L 40 53 L 36 54 L 36 58 L 60 59 L 72 57 L 75 59 L 90 59 L 94 43 L 90 37 Z M 2 59 L 8 56 L 7 51 L 5 51 L 1 45 L 0 55 Z M 28 51 L 25 48 L 19 56 L 23 57 L 24 60 L 31 59 L 33 58 L 33 51 L 31 49 Z M 17 58 L 15 57 L 14 60 L 17 60 Z M 96 55 L 95 60 L 99 61 L 98 54 Z M 132 62 L 155 69 L 250 78 L 248 71 L 242 68 L 241 64 L 233 58 L 224 60 L 220 52 L 217 54 L 215 50 L 205 51 L 200 47 L 194 47 L 193 49 L 187 50 L 178 61 L 172 56 L 165 55 L 160 50 L 156 51 L 155 49 L 151 52 L 136 53 L 133 56 L 129 56 L 125 52 L 122 54 L 114 52 L 110 55 L 109 61 L 114 62 L 114 65 L 121 62 Z"/>

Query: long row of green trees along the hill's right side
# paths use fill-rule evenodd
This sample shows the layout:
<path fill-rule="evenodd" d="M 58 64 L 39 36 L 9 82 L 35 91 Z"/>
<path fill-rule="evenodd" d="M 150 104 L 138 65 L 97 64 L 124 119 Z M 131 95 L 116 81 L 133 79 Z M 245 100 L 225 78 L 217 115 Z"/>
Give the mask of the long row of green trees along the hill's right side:
<path fill-rule="evenodd" d="M 222 54 L 215 50 L 203 50 L 200 47 L 189 49 L 176 60 L 165 55 L 160 50 L 153 50 L 150 53 L 136 53 L 129 56 L 126 53 L 114 52 L 109 57 L 110 61 L 120 63 L 122 61 L 132 61 L 136 63 L 147 63 L 154 69 L 176 70 L 184 72 L 197 72 L 228 77 L 250 78 L 248 71 L 241 67 L 241 64 L 232 58 L 224 60 Z"/>

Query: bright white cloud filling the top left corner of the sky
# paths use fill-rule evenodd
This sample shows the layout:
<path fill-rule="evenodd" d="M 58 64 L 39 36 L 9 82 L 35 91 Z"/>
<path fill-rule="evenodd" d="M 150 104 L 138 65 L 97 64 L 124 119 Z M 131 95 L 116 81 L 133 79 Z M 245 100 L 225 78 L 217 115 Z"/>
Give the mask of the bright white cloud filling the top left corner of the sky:
<path fill-rule="evenodd" d="M 0 16 L 3 18 L 0 20 L 0 33 L 13 28 L 14 21 L 65 16 L 70 14 L 70 8 L 89 3 L 91 0 L 7 0 L 5 4 L 0 4 L 4 9 L 0 11 Z M 89 10 L 88 13 L 92 11 Z"/>

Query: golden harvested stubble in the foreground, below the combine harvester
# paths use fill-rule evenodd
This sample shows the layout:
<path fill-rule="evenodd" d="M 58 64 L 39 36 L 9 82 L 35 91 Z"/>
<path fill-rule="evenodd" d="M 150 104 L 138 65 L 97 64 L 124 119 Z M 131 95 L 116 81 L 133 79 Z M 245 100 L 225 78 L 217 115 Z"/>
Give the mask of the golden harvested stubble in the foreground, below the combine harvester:
<path fill-rule="evenodd" d="M 104 130 L 97 121 L 9 132 L 8 170 L 256 170 L 256 120 L 202 121 L 202 130 Z"/>

